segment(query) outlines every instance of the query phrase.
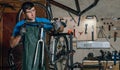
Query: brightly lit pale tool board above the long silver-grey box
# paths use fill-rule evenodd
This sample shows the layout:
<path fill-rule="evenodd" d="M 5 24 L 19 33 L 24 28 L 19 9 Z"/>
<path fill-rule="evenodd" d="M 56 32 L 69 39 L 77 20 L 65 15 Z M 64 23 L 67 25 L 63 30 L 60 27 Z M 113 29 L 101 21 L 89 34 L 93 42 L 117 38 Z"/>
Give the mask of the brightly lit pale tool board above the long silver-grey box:
<path fill-rule="evenodd" d="M 63 17 L 67 21 L 67 27 L 64 29 L 64 32 L 72 30 L 74 38 L 79 40 L 96 40 L 96 17 L 86 18 L 82 16 L 80 20 L 80 25 L 78 26 L 78 17 L 74 17 L 74 20 L 71 17 Z M 93 33 L 93 35 L 92 35 Z"/>

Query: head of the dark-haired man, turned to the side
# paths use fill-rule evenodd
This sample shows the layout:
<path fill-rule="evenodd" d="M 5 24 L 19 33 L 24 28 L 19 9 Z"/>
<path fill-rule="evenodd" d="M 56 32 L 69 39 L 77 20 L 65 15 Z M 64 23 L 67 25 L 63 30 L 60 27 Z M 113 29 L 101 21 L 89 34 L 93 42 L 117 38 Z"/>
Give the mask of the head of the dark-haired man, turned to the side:
<path fill-rule="evenodd" d="M 25 2 L 22 4 L 22 10 L 28 21 L 34 21 L 36 17 L 36 10 L 32 2 Z"/>

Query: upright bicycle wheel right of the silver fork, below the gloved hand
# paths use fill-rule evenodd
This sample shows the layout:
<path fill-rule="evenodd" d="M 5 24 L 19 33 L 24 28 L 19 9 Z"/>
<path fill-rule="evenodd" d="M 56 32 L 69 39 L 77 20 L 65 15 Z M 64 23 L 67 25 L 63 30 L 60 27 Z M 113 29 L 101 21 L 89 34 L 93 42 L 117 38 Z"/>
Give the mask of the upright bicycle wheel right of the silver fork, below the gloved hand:
<path fill-rule="evenodd" d="M 70 70 L 70 52 L 66 36 L 58 36 L 55 41 L 55 70 Z"/>

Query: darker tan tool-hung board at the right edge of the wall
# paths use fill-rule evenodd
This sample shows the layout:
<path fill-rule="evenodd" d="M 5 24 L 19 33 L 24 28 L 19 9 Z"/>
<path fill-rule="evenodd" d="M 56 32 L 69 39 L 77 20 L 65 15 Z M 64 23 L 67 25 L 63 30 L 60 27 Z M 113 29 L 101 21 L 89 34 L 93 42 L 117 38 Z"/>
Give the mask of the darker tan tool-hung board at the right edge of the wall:
<path fill-rule="evenodd" d="M 107 38 L 114 38 L 120 37 L 120 19 L 115 18 L 102 18 L 99 21 L 98 27 L 102 27 L 102 31 L 106 36 L 102 36 L 101 30 L 98 29 L 98 38 L 100 37 L 107 37 Z M 101 33 L 101 34 L 100 34 Z"/>

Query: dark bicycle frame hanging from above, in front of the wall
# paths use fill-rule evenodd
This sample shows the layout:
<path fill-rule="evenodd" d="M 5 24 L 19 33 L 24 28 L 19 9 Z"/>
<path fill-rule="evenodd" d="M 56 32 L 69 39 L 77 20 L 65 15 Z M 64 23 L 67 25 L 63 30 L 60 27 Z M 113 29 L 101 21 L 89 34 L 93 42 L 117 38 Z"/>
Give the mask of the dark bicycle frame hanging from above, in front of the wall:
<path fill-rule="evenodd" d="M 78 0 L 74 0 L 75 1 L 75 5 L 76 5 L 76 10 L 75 9 L 72 9 L 66 5 L 63 5 L 55 0 L 47 0 L 50 4 L 53 4 L 59 8 L 62 8 L 66 11 L 69 11 L 77 16 L 79 16 L 79 19 L 78 19 L 78 26 L 79 26 L 79 22 L 80 22 L 80 17 L 82 14 L 84 14 L 85 12 L 87 12 L 88 10 L 90 10 L 91 8 L 93 8 L 94 6 L 97 5 L 97 3 L 99 2 L 99 0 L 94 0 L 94 2 L 92 4 L 90 4 L 87 8 L 85 8 L 84 10 L 81 11 L 80 9 L 80 6 L 79 6 L 79 1 Z"/>

